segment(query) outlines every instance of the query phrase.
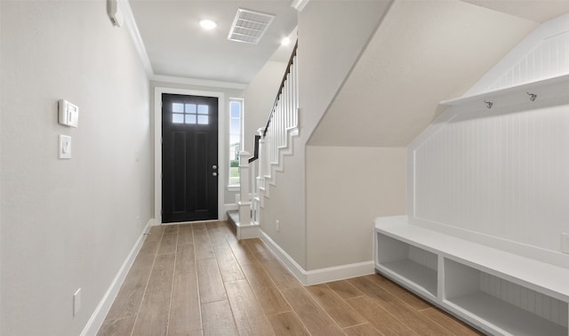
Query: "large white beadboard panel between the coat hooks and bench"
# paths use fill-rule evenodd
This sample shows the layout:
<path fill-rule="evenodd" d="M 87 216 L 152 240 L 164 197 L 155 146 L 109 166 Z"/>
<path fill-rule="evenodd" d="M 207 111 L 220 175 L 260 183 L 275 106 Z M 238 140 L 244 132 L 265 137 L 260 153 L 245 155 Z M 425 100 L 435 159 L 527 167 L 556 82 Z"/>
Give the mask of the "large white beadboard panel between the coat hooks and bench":
<path fill-rule="evenodd" d="M 414 216 L 560 251 L 569 105 L 457 115 L 415 149 Z"/>

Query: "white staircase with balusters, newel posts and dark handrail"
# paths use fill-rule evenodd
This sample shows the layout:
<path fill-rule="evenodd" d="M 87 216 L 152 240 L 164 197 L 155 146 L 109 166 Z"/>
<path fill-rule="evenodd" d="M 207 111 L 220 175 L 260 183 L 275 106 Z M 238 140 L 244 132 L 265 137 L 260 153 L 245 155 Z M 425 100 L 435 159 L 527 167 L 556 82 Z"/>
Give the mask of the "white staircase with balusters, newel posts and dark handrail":
<path fill-rule="evenodd" d="M 270 196 L 270 186 L 276 186 L 276 172 L 283 172 L 284 156 L 293 155 L 293 137 L 299 135 L 297 47 L 298 43 L 294 46 L 267 124 L 255 136 L 254 153 L 239 153 L 239 210 L 238 213 L 228 212 L 229 220 L 236 226 L 237 239 L 259 235 L 260 208 Z"/>

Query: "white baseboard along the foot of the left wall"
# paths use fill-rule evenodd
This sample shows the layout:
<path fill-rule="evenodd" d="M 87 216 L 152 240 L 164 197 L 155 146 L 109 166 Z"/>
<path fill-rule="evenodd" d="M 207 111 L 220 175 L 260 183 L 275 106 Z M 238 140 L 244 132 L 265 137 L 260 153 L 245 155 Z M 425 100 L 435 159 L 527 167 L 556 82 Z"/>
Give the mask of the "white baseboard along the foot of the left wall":
<path fill-rule="evenodd" d="M 124 260 L 121 268 L 118 269 L 118 273 L 110 286 L 108 286 L 107 292 L 105 292 L 105 295 L 103 295 L 99 305 L 93 311 L 91 318 L 89 318 L 89 321 L 85 324 L 83 332 L 81 332 L 81 336 L 94 336 L 99 332 L 100 326 L 103 324 L 105 317 L 108 314 L 108 310 L 110 310 L 113 305 L 113 301 L 116 299 L 116 294 L 124 283 L 124 278 L 132 267 L 132 262 L 134 262 L 136 256 L 140 252 L 140 247 L 142 247 L 142 243 L 144 243 L 144 238 L 146 236 L 145 233 L 147 233 L 148 229 L 153 225 L 156 225 L 156 220 L 148 220 L 146 228 L 144 228 L 140 233 L 139 239 L 136 241 L 134 246 L 132 246 L 131 252 Z"/>

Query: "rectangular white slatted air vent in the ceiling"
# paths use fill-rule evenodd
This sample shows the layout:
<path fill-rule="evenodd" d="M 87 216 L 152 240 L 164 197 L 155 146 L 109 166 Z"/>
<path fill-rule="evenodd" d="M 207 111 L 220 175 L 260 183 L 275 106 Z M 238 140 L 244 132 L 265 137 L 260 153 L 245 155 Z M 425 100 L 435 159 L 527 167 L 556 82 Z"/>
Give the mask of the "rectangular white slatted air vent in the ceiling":
<path fill-rule="evenodd" d="M 228 40 L 258 44 L 275 15 L 251 12 L 239 8 L 229 30 Z"/>

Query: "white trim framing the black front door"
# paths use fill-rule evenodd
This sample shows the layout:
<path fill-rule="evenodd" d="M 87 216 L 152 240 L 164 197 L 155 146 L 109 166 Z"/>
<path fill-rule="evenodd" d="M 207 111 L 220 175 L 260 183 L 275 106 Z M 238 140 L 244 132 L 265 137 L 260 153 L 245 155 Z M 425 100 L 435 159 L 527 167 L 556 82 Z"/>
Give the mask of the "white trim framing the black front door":
<path fill-rule="evenodd" d="M 223 153 L 226 152 L 225 144 L 225 93 L 200 91 L 189 89 L 175 89 L 170 87 L 154 88 L 154 218 L 156 223 L 162 224 L 162 93 L 184 94 L 188 96 L 204 96 L 218 98 L 218 184 L 217 184 L 217 218 L 223 218 L 225 183 L 227 174 L 227 164 L 223 161 Z"/>

